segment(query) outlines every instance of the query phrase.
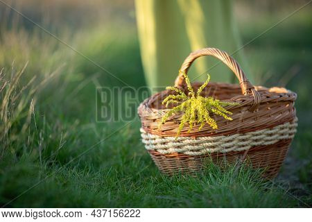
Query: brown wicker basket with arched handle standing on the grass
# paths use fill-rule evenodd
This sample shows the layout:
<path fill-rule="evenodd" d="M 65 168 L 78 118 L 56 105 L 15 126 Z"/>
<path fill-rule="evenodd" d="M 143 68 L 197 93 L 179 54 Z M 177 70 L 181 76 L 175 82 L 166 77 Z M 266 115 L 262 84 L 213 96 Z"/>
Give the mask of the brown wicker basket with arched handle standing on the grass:
<path fill-rule="evenodd" d="M 173 115 L 159 128 L 159 121 L 168 112 L 162 101 L 173 92 L 165 90 L 154 94 L 138 108 L 142 142 L 153 161 L 160 171 L 172 175 L 199 171 L 204 160 L 220 163 L 220 160 L 248 159 L 252 167 L 265 169 L 264 176 L 274 178 L 296 132 L 297 95 L 281 87 L 254 87 L 231 56 L 213 48 L 195 51 L 184 60 L 175 80 L 176 87 L 187 91 L 181 73 L 187 74 L 192 62 L 200 56 L 215 56 L 239 78 L 240 85 L 209 83 L 202 92 L 204 96 L 239 103 L 226 107 L 233 113 L 233 121 L 212 115 L 218 123 L 217 130 L 205 124 L 202 129 L 195 126 L 188 133 L 189 125 L 185 125 L 176 137 L 182 113 Z M 195 90 L 200 85 L 202 83 L 192 84 Z"/>

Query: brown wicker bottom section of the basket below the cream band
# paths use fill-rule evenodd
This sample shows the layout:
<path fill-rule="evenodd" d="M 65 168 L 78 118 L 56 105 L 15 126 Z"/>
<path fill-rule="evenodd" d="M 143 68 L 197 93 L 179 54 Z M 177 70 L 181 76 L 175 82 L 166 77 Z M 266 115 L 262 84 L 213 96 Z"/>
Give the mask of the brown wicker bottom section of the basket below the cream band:
<path fill-rule="evenodd" d="M 222 167 L 225 163 L 233 163 L 236 160 L 245 159 L 250 162 L 253 168 L 265 169 L 263 177 L 272 179 L 279 173 L 291 140 L 292 139 L 282 139 L 272 145 L 254 146 L 250 148 L 247 155 L 245 151 L 211 153 L 207 155 L 185 155 L 182 153 L 162 154 L 153 150 L 148 152 L 159 170 L 168 176 L 175 173 L 193 173 L 201 171 L 205 164 L 204 162 L 207 160 L 212 160 L 212 162 Z"/>

